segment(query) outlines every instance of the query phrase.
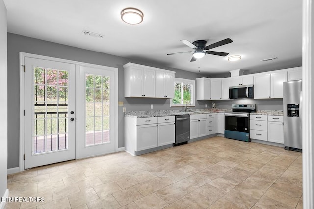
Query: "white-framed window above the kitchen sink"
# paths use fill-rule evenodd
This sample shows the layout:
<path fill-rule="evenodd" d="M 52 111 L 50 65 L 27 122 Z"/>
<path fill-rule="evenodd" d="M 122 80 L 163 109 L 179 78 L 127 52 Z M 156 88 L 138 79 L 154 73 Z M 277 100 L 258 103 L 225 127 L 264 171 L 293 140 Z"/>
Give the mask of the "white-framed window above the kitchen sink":
<path fill-rule="evenodd" d="M 170 106 L 195 106 L 195 80 L 175 78 L 175 96 Z"/>

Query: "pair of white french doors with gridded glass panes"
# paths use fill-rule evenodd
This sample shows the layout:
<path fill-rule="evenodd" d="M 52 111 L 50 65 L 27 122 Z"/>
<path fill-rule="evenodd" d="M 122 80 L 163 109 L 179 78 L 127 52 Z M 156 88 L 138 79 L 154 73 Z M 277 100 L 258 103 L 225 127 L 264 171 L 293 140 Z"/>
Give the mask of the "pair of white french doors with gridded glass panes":
<path fill-rule="evenodd" d="M 117 69 L 25 57 L 24 168 L 115 151 Z"/>

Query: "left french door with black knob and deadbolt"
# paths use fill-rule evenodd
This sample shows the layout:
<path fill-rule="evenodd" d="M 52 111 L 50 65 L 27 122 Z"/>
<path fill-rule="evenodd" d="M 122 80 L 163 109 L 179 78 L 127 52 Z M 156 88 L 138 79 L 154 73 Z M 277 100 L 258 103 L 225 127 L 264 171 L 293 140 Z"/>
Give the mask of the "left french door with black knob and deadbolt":
<path fill-rule="evenodd" d="M 75 159 L 75 67 L 25 58 L 25 169 Z"/>

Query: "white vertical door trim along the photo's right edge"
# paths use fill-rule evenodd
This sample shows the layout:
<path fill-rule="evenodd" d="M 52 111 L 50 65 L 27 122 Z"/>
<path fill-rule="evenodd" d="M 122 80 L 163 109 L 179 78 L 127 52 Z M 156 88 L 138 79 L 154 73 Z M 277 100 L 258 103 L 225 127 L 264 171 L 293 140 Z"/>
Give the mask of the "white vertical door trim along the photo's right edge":
<path fill-rule="evenodd" d="M 303 173 L 303 208 L 313 209 L 314 207 L 314 142 L 313 142 L 313 118 L 314 111 L 312 105 L 314 99 L 314 74 L 312 73 L 312 65 L 314 60 L 314 42 L 312 35 L 314 26 L 312 25 L 314 4 L 312 0 L 303 0 L 302 10 L 302 173 Z M 306 114 L 304 114 L 306 113 Z"/>

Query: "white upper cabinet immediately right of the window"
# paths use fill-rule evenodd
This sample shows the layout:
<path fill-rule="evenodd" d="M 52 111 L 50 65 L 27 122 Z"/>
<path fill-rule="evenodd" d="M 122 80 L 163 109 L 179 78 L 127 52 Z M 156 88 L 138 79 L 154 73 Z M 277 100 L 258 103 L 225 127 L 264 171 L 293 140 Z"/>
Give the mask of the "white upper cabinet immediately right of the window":
<path fill-rule="evenodd" d="M 196 78 L 196 99 L 210 100 L 211 98 L 211 80 L 210 78 Z"/>

